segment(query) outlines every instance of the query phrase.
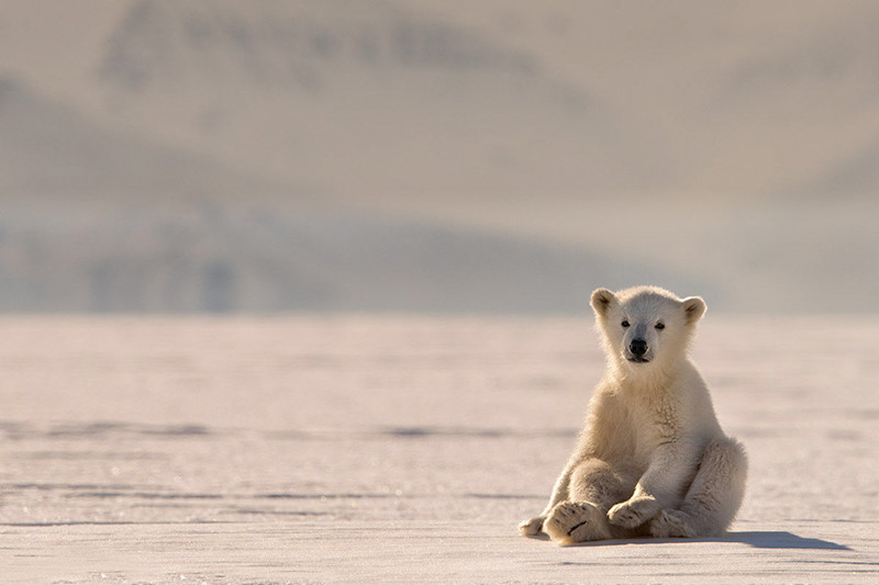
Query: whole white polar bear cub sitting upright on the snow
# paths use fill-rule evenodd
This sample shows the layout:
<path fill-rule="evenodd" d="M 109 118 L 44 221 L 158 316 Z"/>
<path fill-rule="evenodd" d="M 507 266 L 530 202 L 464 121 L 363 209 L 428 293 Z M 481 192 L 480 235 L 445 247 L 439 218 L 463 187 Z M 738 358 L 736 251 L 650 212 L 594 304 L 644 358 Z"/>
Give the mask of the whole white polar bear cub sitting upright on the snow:
<path fill-rule="evenodd" d="M 608 371 L 549 504 L 520 531 L 559 544 L 723 533 L 742 504 L 747 459 L 688 357 L 704 301 L 636 286 L 599 289 L 591 305 Z"/>

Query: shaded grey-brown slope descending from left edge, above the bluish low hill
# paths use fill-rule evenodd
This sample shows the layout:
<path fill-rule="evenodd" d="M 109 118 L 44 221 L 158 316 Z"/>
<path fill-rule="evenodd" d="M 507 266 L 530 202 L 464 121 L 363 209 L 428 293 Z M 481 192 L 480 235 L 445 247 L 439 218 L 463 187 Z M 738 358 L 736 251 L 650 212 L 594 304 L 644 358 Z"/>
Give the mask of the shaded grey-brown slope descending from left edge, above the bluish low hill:
<path fill-rule="evenodd" d="M 279 189 L 210 157 L 104 128 L 0 77 L 0 201 L 7 204 L 162 205 Z"/>

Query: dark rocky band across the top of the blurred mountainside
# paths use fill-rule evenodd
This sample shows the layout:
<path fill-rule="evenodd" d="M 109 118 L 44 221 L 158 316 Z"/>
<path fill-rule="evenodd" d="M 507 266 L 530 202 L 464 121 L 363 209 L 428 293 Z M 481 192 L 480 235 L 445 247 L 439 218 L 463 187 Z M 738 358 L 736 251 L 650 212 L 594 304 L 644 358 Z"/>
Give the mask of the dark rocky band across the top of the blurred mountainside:
<path fill-rule="evenodd" d="M 518 75 L 534 66 L 527 54 L 404 2 L 138 0 L 110 38 L 101 74 L 133 92 L 236 77 L 320 90 L 342 67 Z"/>

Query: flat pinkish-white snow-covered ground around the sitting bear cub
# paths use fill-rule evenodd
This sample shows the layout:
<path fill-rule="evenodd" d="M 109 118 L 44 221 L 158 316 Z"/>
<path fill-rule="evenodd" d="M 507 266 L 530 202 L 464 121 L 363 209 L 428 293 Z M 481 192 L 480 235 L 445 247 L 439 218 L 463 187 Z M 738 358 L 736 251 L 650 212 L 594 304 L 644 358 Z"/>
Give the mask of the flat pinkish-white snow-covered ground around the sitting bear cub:
<path fill-rule="evenodd" d="M 732 532 L 516 533 L 603 358 L 591 319 L 0 319 L 0 581 L 875 583 L 879 319 L 709 313 L 750 455 Z"/>

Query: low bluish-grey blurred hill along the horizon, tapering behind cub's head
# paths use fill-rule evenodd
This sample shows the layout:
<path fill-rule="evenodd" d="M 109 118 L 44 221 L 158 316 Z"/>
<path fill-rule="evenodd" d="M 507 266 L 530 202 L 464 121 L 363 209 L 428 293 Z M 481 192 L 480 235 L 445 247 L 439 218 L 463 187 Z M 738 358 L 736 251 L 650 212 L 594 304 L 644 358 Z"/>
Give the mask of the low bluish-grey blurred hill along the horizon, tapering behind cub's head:
<path fill-rule="evenodd" d="M 582 313 L 599 285 L 702 281 L 368 215 L 204 204 L 0 217 L 0 311 Z"/>

